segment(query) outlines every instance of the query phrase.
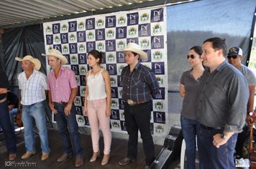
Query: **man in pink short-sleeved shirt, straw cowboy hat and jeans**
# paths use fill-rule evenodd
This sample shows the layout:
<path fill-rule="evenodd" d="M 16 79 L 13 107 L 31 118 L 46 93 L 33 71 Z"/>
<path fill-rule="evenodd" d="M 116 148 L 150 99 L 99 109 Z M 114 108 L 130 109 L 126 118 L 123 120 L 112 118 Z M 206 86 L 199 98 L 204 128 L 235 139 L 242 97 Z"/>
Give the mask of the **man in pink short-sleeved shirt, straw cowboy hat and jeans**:
<path fill-rule="evenodd" d="M 83 148 L 76 121 L 76 108 L 73 103 L 78 91 L 75 74 L 71 69 L 62 66 L 62 64 L 68 63 L 68 59 L 58 50 L 51 49 L 49 54 L 42 55 L 48 58 L 50 67 L 53 69 L 48 75 L 47 83 L 49 105 L 55 114 L 64 151 L 57 161 L 62 162 L 68 159 L 72 154 L 73 147 L 73 153 L 76 155 L 76 167 L 80 167 L 83 165 Z"/>

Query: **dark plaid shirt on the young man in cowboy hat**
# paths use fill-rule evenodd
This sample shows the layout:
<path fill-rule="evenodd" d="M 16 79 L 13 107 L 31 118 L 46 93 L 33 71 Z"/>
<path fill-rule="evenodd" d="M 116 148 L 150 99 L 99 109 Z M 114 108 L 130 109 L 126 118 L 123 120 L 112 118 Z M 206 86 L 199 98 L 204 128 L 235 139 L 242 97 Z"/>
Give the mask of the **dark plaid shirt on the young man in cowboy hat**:
<path fill-rule="evenodd" d="M 140 63 L 133 72 L 129 72 L 129 65 L 122 69 L 123 100 L 147 102 L 157 95 L 159 84 L 152 70 Z"/>

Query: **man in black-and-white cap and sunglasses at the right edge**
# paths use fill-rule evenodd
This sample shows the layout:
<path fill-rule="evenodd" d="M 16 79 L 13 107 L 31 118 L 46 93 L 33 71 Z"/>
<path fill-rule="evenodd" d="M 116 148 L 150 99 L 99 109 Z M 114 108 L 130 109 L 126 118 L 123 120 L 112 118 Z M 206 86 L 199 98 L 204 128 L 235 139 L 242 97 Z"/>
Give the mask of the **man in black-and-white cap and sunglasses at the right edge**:
<path fill-rule="evenodd" d="M 253 112 L 253 104 L 255 99 L 255 86 L 256 86 L 256 78 L 255 74 L 248 67 L 242 64 L 242 49 L 239 47 L 232 47 L 229 49 L 229 53 L 227 54 L 227 59 L 229 60 L 229 64 L 232 64 L 234 67 L 239 69 L 240 72 L 244 75 L 245 79 L 247 79 L 248 87 L 249 87 L 249 100 L 247 103 L 247 122 L 250 124 L 250 112 Z M 246 132 L 245 130 L 243 132 Z M 242 133 L 239 133 L 237 137 L 237 150 L 236 155 L 242 156 L 242 150 L 239 150 L 239 136 L 242 137 Z"/>

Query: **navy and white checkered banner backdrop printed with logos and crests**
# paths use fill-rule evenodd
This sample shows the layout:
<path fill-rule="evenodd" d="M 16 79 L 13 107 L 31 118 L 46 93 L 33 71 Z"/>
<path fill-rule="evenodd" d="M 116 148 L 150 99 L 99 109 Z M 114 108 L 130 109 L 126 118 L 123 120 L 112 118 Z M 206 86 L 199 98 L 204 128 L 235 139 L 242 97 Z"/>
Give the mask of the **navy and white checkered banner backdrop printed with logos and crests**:
<path fill-rule="evenodd" d="M 148 59 L 142 64 L 150 67 L 160 84 L 159 95 L 153 100 L 151 114 L 152 135 L 168 133 L 168 77 L 166 9 L 141 9 L 111 14 L 86 16 L 77 19 L 46 22 L 43 24 L 45 52 L 58 49 L 68 59 L 65 67 L 73 69 L 78 82 L 75 105 L 77 122 L 81 127 L 89 127 L 88 117 L 83 115 L 86 89 L 87 52 L 97 49 L 104 52 L 101 64 L 111 77 L 111 131 L 126 132 L 124 122 L 124 100 L 120 74 L 127 64 L 123 49 L 127 43 L 140 44 L 147 52 Z M 47 65 L 47 73 L 50 67 Z M 52 116 L 53 113 L 52 113 Z M 55 118 L 52 117 L 52 122 Z"/>

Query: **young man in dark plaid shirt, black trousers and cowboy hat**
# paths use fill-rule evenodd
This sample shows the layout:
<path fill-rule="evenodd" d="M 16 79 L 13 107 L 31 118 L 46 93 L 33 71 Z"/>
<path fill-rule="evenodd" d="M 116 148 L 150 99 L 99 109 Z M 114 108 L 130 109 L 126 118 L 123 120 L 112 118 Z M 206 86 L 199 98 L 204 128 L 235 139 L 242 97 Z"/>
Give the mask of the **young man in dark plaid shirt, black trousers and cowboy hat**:
<path fill-rule="evenodd" d="M 149 168 L 155 160 L 155 148 L 150 132 L 150 117 L 152 97 L 157 95 L 159 85 L 154 72 L 139 59 L 147 59 L 147 53 L 140 46 L 129 43 L 124 49 L 127 66 L 122 69 L 123 85 L 122 99 L 124 104 L 124 119 L 129 134 L 127 157 L 119 161 L 119 165 L 127 165 L 137 158 L 138 130 L 143 141 L 146 166 Z"/>

